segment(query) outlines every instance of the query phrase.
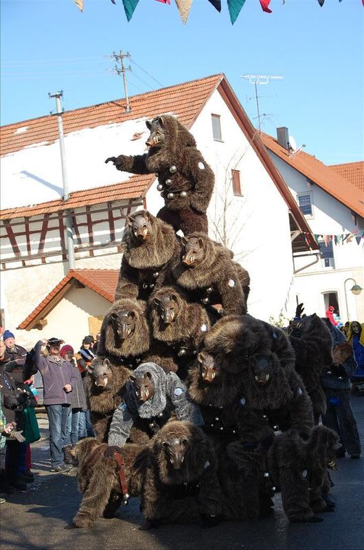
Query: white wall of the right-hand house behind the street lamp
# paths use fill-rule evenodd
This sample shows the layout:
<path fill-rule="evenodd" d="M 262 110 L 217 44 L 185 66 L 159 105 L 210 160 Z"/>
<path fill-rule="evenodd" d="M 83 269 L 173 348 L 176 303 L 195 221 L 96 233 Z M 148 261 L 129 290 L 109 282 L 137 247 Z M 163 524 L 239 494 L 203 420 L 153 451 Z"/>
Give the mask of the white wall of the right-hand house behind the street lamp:
<path fill-rule="evenodd" d="M 363 219 L 357 217 L 357 223 L 355 223 L 354 217 L 347 206 L 319 186 L 308 185 L 307 178 L 302 173 L 299 173 L 271 151 L 269 151 L 269 154 L 295 199 L 297 199 L 298 194 L 310 192 L 312 217 L 306 217 L 306 219 L 312 233 L 345 234 L 363 228 Z M 315 265 L 307 267 L 295 275 L 295 290 L 299 295 L 299 300 L 304 302 L 307 313 L 315 311 L 320 316 L 324 316 L 323 293 L 337 292 L 343 322 L 348 320 L 348 317 L 349 320 L 363 322 L 364 292 L 356 297 L 350 292 L 350 288 L 355 281 L 364 289 L 364 239 L 361 239 L 359 245 L 355 239 L 352 239 L 350 243 L 333 244 L 333 252 L 334 267 L 324 267 L 323 262 L 320 260 Z M 299 267 L 307 265 L 310 261 L 308 256 L 295 259 L 295 268 L 299 269 Z M 352 281 L 352 278 L 354 281 Z M 345 283 L 347 279 L 350 280 Z M 348 308 L 346 307 L 346 301 L 348 301 Z"/>

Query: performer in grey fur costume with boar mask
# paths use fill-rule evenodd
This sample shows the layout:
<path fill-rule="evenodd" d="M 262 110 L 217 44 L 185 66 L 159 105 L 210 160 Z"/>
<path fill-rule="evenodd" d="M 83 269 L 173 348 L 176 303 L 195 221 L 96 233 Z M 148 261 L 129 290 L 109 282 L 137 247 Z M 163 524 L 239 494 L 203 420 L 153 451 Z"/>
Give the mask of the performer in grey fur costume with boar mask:
<path fill-rule="evenodd" d="M 141 385 L 144 380 L 148 387 Z M 124 445 L 137 419 L 138 426 L 145 424 L 152 437 L 171 415 L 196 426 L 203 424 L 200 410 L 187 398 L 187 388 L 177 374 L 166 373 L 155 363 L 142 363 L 126 382 L 124 399 L 113 414 L 109 445 L 117 448 Z"/>

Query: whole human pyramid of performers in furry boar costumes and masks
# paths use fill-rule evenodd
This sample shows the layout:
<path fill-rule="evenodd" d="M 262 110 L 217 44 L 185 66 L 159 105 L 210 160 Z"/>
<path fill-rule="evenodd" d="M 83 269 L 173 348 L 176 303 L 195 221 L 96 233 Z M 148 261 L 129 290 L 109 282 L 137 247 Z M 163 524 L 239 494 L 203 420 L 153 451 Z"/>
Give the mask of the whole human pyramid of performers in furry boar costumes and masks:
<path fill-rule="evenodd" d="M 278 491 L 289 520 L 321 521 L 337 448 L 315 425 L 330 332 L 315 314 L 297 316 L 289 336 L 247 314 L 249 274 L 207 236 L 212 169 L 176 118 L 146 124 L 148 153 L 106 162 L 155 173 L 165 206 L 126 220 L 87 374 L 95 438 L 76 445 L 84 497 L 73 527 L 112 517 L 130 496 L 141 496 L 141 529 L 255 520 Z"/>

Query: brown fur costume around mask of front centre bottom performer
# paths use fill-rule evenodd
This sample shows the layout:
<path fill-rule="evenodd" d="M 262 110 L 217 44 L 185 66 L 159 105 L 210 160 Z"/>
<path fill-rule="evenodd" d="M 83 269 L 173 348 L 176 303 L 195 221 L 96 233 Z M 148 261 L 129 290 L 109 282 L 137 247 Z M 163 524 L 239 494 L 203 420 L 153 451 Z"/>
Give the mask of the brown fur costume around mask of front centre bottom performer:
<path fill-rule="evenodd" d="M 170 442 L 183 442 L 179 469 L 168 454 Z M 170 421 L 153 439 L 144 478 L 141 508 L 145 527 L 161 522 L 188 522 L 220 515 L 220 487 L 214 450 L 200 428 L 190 422 Z"/>

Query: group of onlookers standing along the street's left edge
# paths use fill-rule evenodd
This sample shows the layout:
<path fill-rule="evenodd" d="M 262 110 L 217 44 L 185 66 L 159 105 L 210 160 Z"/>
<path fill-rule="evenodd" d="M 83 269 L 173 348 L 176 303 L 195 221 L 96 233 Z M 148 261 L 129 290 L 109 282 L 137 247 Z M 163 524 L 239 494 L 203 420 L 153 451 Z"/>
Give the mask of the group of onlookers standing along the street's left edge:
<path fill-rule="evenodd" d="M 64 344 L 64 345 L 62 345 Z M 49 421 L 51 471 L 67 472 L 73 465 L 72 448 L 93 436 L 84 389 L 87 368 L 98 341 L 85 336 L 75 354 L 59 338 L 39 340 L 27 352 L 3 331 L 0 340 L 0 492 L 25 492 L 34 481 L 30 443 L 41 439 L 35 414 L 37 391 L 33 375 L 43 380 L 43 405 Z M 4 498 L 0 503 L 5 502 Z"/>

